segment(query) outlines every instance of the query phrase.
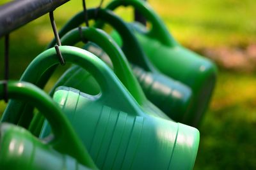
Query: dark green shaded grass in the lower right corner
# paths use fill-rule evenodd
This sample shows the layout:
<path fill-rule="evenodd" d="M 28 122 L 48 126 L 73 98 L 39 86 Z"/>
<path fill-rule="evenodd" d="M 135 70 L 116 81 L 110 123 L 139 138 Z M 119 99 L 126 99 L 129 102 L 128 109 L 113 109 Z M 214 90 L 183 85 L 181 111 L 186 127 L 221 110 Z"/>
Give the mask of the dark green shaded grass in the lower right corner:
<path fill-rule="evenodd" d="M 256 122 L 237 120 L 236 114 L 243 114 L 241 106 L 207 114 L 195 169 L 256 169 Z"/>

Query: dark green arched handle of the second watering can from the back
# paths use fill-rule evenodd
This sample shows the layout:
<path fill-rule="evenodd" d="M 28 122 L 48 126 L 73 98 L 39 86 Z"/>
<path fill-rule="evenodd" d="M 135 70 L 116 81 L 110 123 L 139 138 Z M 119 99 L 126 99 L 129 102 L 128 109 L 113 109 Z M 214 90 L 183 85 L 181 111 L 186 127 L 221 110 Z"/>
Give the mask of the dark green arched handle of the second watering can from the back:
<path fill-rule="evenodd" d="M 97 16 L 95 13 L 97 11 Z M 131 29 L 128 27 L 127 24 L 122 20 L 122 18 L 115 15 L 110 10 L 104 9 L 89 9 L 87 10 L 88 13 L 88 20 L 100 20 L 103 22 L 108 23 L 111 25 L 117 32 L 120 34 L 123 40 L 123 47 L 122 50 L 125 53 L 127 59 L 132 62 L 133 64 L 140 65 L 146 71 L 154 70 L 154 66 L 150 63 L 147 56 L 143 52 L 140 44 L 138 43 L 136 37 L 132 33 Z M 67 24 L 65 24 L 60 32 L 60 37 L 64 36 L 68 31 L 79 27 L 79 25 L 83 24 L 84 22 L 84 13 L 83 11 L 77 13 L 74 17 L 72 17 Z M 97 25 L 96 25 L 97 26 Z M 100 26 L 100 25 L 99 25 Z M 51 41 L 49 46 L 54 46 L 55 41 L 54 39 Z"/>

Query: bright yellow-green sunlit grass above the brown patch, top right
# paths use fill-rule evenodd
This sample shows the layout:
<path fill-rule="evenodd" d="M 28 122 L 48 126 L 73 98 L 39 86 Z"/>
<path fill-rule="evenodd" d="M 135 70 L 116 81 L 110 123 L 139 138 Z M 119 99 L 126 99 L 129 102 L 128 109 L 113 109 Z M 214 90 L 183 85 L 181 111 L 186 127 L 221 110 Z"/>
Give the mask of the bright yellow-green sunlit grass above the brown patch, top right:
<path fill-rule="evenodd" d="M 255 1 L 150 1 L 175 38 L 198 46 L 255 43 Z"/>

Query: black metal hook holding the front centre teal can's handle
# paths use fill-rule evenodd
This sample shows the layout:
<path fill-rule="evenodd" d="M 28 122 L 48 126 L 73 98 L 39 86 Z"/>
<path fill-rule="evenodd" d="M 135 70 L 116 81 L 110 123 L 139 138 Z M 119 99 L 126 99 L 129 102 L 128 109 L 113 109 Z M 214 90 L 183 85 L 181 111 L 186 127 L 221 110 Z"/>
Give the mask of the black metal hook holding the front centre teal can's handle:
<path fill-rule="evenodd" d="M 58 34 L 58 31 L 57 31 L 57 28 L 56 28 L 56 24 L 55 24 L 55 21 L 54 21 L 54 15 L 53 15 L 53 11 L 50 11 L 49 12 L 49 16 L 50 16 L 50 20 L 51 20 L 51 25 L 52 25 L 52 31 L 54 33 L 54 37 L 56 39 L 56 43 L 57 45 L 54 46 L 55 50 L 56 50 L 56 53 L 57 53 L 57 56 L 59 57 L 60 59 L 60 64 L 62 66 L 65 65 L 65 60 L 63 59 L 62 55 L 61 55 L 61 52 L 60 52 L 60 48 L 59 46 L 61 46 L 61 41 L 60 41 L 60 36 Z"/>

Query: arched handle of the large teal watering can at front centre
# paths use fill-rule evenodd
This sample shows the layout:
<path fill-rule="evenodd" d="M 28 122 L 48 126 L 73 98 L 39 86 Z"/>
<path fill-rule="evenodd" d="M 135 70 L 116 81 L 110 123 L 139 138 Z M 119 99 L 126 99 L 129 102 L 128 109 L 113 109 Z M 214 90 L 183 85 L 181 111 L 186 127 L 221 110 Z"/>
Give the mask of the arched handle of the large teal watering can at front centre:
<path fill-rule="evenodd" d="M 134 100 L 130 96 L 129 92 L 127 92 L 127 89 L 125 89 L 124 85 L 120 83 L 120 80 L 118 80 L 113 71 L 102 60 L 92 53 L 74 46 L 60 46 L 59 48 L 65 62 L 71 62 L 72 64 L 83 67 L 92 74 L 92 76 L 94 76 L 96 81 L 99 83 L 102 92 L 100 98 L 104 99 L 104 97 L 108 98 L 109 96 L 116 96 L 120 102 L 127 103 L 127 108 L 129 108 L 131 113 L 134 115 L 140 115 L 141 110 L 138 104 L 134 103 Z M 60 64 L 60 61 L 56 55 L 55 48 L 45 50 L 45 52 L 40 53 L 40 55 L 38 55 L 29 64 L 20 80 L 38 85 L 38 83 L 42 82 L 41 77 L 44 76 L 44 73 L 51 70 L 52 67 L 56 67 L 58 64 Z M 110 91 L 109 89 L 113 90 Z M 107 99 L 106 104 L 109 103 L 110 101 Z M 15 115 L 13 114 L 13 117 L 20 118 L 20 112 L 24 106 L 26 106 L 26 103 L 10 101 L 4 113 L 5 117 L 3 120 L 6 122 L 15 121 L 10 120 L 10 112 L 12 112 L 13 108 L 15 109 L 13 112 Z"/>

